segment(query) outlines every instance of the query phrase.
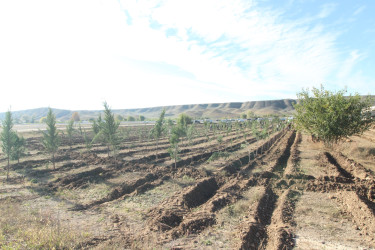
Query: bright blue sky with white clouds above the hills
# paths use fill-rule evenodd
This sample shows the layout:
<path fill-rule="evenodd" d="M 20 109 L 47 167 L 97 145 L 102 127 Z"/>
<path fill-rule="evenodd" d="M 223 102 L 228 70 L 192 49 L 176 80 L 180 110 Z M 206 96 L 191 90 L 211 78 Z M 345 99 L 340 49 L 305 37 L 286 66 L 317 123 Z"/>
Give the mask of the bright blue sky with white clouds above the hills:
<path fill-rule="evenodd" d="M 6 0 L 0 111 L 375 94 L 375 1 Z M 4 92 L 6 94 L 4 94 Z"/>

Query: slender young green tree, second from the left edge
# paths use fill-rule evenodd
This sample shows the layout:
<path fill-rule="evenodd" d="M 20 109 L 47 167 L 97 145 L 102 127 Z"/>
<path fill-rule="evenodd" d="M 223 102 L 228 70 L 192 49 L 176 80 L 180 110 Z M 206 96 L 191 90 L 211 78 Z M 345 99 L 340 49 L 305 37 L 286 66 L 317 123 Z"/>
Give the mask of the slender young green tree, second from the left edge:
<path fill-rule="evenodd" d="M 52 109 L 48 109 L 46 118 L 47 131 L 42 131 L 43 138 L 42 144 L 47 153 L 51 155 L 53 169 L 56 169 L 55 165 L 55 154 L 60 146 L 59 132 L 56 128 L 56 116 L 53 114 Z"/>

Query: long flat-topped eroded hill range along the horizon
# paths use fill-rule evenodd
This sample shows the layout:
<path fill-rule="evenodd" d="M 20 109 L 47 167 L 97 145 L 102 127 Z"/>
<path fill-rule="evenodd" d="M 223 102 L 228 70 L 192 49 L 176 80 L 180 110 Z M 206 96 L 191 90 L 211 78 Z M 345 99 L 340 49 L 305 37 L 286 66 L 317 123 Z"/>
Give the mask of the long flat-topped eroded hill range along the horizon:
<path fill-rule="evenodd" d="M 374 101 L 375 98 L 372 96 Z M 279 116 L 291 115 L 294 112 L 293 104 L 297 101 L 294 99 L 267 100 L 267 101 L 250 101 L 250 102 L 228 102 L 228 103 L 209 103 L 209 104 L 190 104 L 160 106 L 139 109 L 115 109 L 115 114 L 120 114 L 125 118 L 129 115 L 143 115 L 148 119 L 155 119 L 165 108 L 166 117 L 177 117 L 181 113 L 186 113 L 193 118 L 237 118 L 243 113 L 253 112 L 256 115 L 274 114 Z M 375 103 L 374 103 L 375 105 Z M 101 110 L 64 110 L 52 109 L 57 120 L 69 120 L 74 112 L 78 112 L 81 120 L 96 118 L 102 112 Z M 40 118 L 47 116 L 48 108 L 37 108 L 12 112 L 14 118 L 21 120 L 31 120 L 38 122 Z M 0 113 L 0 119 L 3 119 L 5 113 Z"/>

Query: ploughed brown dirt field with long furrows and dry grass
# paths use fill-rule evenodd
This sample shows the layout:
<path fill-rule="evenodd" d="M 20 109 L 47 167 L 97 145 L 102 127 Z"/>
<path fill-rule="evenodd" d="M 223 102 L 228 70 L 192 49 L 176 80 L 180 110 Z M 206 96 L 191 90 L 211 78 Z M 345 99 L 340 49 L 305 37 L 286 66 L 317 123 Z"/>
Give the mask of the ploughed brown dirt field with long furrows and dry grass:
<path fill-rule="evenodd" d="M 8 182 L 0 159 L 0 247 L 375 248 L 375 129 L 328 149 L 288 129 L 198 128 L 177 168 L 149 129 L 126 128 L 116 159 L 65 138 L 56 170 L 28 131 Z"/>

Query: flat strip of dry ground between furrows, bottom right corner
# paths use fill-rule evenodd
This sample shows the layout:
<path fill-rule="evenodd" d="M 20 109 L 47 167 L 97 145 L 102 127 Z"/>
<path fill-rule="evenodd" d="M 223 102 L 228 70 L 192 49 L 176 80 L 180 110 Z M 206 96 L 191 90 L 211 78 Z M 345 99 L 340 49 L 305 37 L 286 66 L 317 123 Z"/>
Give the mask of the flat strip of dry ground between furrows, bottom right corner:
<path fill-rule="evenodd" d="M 295 210 L 296 249 L 358 249 L 366 247 L 350 216 L 334 194 L 306 192 Z"/>

